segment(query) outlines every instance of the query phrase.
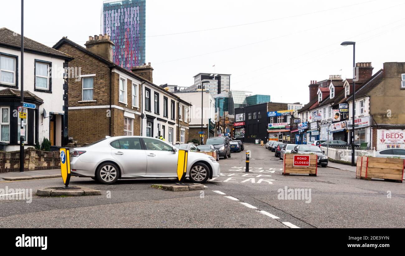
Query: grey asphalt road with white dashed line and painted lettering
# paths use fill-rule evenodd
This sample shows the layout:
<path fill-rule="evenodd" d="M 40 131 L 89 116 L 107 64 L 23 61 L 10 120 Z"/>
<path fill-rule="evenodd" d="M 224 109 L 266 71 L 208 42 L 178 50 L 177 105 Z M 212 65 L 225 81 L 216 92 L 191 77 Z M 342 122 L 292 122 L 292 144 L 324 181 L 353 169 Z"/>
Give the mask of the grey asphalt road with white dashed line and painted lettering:
<path fill-rule="evenodd" d="M 318 176 L 283 176 L 282 161 L 257 145 L 249 173 L 245 154 L 221 159 L 221 177 L 204 190 L 170 192 L 152 184 L 171 179 L 120 180 L 102 185 L 72 177 L 71 186 L 101 190 L 100 196 L 39 197 L 32 202 L 0 198 L 2 228 L 188 227 L 188 228 L 404 228 L 405 184 L 365 181 L 350 171 L 318 167 Z M 1 181 L 0 189 L 61 186 L 61 178 Z M 306 198 L 281 197 L 304 189 Z M 310 194 L 309 194 L 310 193 Z"/>

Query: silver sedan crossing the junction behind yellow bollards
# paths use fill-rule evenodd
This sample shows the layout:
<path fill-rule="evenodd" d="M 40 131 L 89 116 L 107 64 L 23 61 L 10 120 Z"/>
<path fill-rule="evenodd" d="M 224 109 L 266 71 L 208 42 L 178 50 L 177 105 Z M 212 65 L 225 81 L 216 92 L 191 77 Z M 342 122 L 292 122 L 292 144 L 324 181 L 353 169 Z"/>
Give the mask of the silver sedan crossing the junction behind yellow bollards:
<path fill-rule="evenodd" d="M 160 139 L 119 136 L 71 148 L 70 168 L 72 176 L 113 184 L 117 179 L 177 177 L 177 158 L 178 149 Z M 204 183 L 220 173 L 213 157 L 188 152 L 186 177 L 192 182 Z"/>

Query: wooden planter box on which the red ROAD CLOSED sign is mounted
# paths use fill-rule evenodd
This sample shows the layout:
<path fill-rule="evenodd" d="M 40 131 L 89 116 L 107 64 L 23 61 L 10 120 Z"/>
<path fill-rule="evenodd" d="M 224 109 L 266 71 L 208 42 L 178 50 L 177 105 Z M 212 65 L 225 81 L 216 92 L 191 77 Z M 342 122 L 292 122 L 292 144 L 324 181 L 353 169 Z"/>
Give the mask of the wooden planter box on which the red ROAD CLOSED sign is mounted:
<path fill-rule="evenodd" d="M 294 156 L 309 156 L 309 166 L 294 166 Z M 290 173 L 309 174 L 309 176 L 316 176 L 318 173 L 318 156 L 315 154 L 301 155 L 301 154 L 285 154 L 283 158 L 284 170 L 283 175 L 290 175 Z"/>

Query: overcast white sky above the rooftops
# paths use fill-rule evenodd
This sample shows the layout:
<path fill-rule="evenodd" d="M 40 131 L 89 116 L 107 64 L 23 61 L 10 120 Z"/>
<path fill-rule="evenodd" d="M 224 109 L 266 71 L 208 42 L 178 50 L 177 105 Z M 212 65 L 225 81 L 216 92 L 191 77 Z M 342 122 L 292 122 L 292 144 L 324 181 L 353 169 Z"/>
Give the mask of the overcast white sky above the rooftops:
<path fill-rule="evenodd" d="M 0 6 L 0 28 L 20 33 L 20 1 Z M 48 46 L 62 36 L 83 45 L 100 34 L 101 6 L 26 0 L 24 34 Z M 215 64 L 216 73 L 232 74 L 231 90 L 305 104 L 311 80 L 352 77 L 353 49 L 342 41 L 356 41 L 356 62 L 372 62 L 374 73 L 405 62 L 404 10 L 403 0 L 147 0 L 146 62 L 158 85 L 190 86 Z M 246 23 L 254 24 L 236 26 Z"/>

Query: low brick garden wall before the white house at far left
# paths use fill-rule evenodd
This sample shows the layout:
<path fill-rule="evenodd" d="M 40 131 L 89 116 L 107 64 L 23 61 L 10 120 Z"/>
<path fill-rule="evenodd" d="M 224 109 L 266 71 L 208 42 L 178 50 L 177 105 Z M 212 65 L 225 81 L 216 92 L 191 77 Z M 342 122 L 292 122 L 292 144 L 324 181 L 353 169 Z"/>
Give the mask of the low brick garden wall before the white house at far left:
<path fill-rule="evenodd" d="M 59 151 L 24 150 L 24 171 L 60 169 Z M 0 152 L 0 173 L 20 170 L 20 151 Z"/>

